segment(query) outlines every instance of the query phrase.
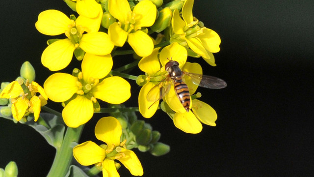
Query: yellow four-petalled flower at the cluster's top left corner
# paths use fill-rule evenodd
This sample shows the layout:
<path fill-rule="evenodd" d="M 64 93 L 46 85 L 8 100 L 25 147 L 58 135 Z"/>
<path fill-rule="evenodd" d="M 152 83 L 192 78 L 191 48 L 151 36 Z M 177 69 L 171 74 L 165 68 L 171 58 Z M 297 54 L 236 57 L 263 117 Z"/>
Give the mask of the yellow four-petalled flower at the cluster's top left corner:
<path fill-rule="evenodd" d="M 89 6 L 83 8 L 81 3 Z M 65 68 L 72 60 L 74 50 L 78 47 L 86 53 L 94 55 L 110 54 L 114 47 L 108 34 L 98 31 L 103 16 L 100 4 L 95 0 L 80 0 L 78 1 L 78 12 L 83 15 L 78 16 L 75 21 L 58 10 L 46 10 L 38 16 L 35 27 L 39 32 L 46 35 L 65 33 L 68 37 L 56 40 L 42 54 L 42 64 L 52 71 Z M 84 31 L 88 33 L 83 34 Z"/>

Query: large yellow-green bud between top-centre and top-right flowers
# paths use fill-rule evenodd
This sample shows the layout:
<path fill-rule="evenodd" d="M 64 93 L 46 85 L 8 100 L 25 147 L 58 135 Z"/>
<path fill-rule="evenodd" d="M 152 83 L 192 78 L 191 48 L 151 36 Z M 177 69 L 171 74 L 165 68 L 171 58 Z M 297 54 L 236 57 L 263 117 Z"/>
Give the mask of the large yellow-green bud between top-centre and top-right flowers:
<path fill-rule="evenodd" d="M 159 16 L 151 29 L 155 32 L 161 32 L 170 26 L 172 11 L 169 7 L 165 7 L 159 11 Z"/>

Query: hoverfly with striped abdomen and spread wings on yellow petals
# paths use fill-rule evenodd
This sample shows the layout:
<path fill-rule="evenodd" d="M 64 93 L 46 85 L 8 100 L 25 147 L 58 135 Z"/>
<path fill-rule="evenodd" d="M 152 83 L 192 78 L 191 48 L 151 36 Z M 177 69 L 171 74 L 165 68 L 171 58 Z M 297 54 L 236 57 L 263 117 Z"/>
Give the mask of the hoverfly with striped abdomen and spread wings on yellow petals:
<path fill-rule="evenodd" d="M 156 86 L 154 86 L 147 94 L 147 100 L 154 102 L 153 104 L 163 98 L 163 96 L 171 88 L 171 83 L 173 83 L 178 99 L 186 112 L 189 112 L 191 103 L 190 92 L 187 85 L 182 80 L 183 75 L 189 76 L 193 84 L 203 88 L 223 89 L 227 87 L 227 83 L 220 78 L 182 71 L 179 68 L 179 62 L 172 59 L 169 59 L 169 61 L 165 64 L 165 70 L 168 72 L 168 75 Z M 156 89 L 159 89 L 159 95 L 156 95 Z M 153 104 L 151 106 L 153 106 Z"/>

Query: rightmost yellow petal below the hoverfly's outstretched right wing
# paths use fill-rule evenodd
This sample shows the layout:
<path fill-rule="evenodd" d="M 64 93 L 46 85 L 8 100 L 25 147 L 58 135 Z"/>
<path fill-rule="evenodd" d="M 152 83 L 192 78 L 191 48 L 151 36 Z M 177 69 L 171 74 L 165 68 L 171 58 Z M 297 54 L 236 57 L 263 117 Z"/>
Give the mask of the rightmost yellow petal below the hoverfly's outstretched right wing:
<path fill-rule="evenodd" d="M 208 104 L 204 103 L 203 101 L 194 99 L 192 111 L 196 118 L 198 118 L 202 123 L 210 126 L 216 126 L 216 111 Z"/>

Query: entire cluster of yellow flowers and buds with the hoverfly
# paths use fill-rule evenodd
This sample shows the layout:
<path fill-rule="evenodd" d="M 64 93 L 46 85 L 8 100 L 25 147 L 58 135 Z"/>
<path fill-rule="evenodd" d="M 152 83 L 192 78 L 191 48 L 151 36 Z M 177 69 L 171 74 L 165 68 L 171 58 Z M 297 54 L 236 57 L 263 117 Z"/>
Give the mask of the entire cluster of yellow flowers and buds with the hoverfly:
<path fill-rule="evenodd" d="M 44 124 L 50 128 L 45 129 L 45 136 L 48 139 L 57 137 L 56 141 L 49 140 L 57 150 L 72 151 L 70 144 L 78 142 L 83 125 L 94 113 L 115 115 L 101 118 L 95 127 L 97 139 L 106 145 L 98 146 L 87 141 L 73 148 L 78 163 L 95 164 L 104 177 L 119 177 L 117 169 L 120 164 L 115 160 L 132 175 L 143 175 L 142 165 L 131 148 L 150 151 L 156 156 L 170 150 L 169 146 L 157 142 L 160 133 L 152 131 L 151 125 L 143 120 L 137 120 L 134 111 L 139 111 L 144 118 L 151 118 L 161 108 L 173 119 L 175 126 L 186 133 L 201 132 L 202 123 L 215 126 L 216 112 L 197 99 L 200 93 L 196 90 L 198 86 L 221 89 L 226 83 L 219 78 L 203 76 L 202 66 L 187 59 L 188 56 L 202 57 L 215 66 L 212 53 L 220 50 L 220 38 L 193 17 L 194 0 L 64 1 L 78 13 L 77 17 L 50 9 L 41 12 L 35 23 L 42 34 L 65 35 L 63 39 L 48 40 L 48 47 L 41 56 L 42 64 L 57 72 L 46 79 L 44 88 L 33 81 L 34 73 L 28 72 L 27 77 L 21 75 L 22 78 L 1 90 L 0 98 L 10 99 L 12 103 L 13 118 L 19 121 L 33 114 L 37 121 L 40 108 L 48 98 L 61 103 L 64 107 L 62 114 L 54 115 L 62 117 L 64 123 L 48 120 L 54 123 L 53 126 Z M 134 59 L 112 70 L 116 63 L 114 56 L 128 54 L 133 54 Z M 80 69 L 74 68 L 72 74 L 60 72 L 70 64 L 73 56 L 81 62 Z M 145 75 L 130 75 L 135 66 Z M 142 86 L 138 107 L 118 105 L 131 97 L 131 85 L 126 79 L 135 80 Z M 102 108 L 104 103 L 100 100 L 108 108 Z M 159 104 L 160 100 L 163 101 Z M 49 108 L 45 110 L 51 111 Z M 124 111 L 129 113 L 122 113 Z M 65 125 L 67 131 L 77 131 L 77 139 L 63 138 Z M 66 133 L 64 136 L 70 135 Z M 56 156 L 55 160 L 60 159 L 61 156 Z M 52 171 L 60 172 L 51 172 L 50 176 L 65 176 L 64 168 L 70 168 L 70 161 L 68 166 L 62 167 L 63 170 L 56 168 L 57 165 L 52 166 Z"/>

